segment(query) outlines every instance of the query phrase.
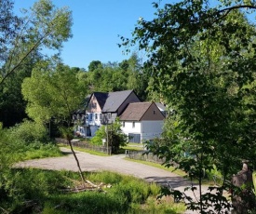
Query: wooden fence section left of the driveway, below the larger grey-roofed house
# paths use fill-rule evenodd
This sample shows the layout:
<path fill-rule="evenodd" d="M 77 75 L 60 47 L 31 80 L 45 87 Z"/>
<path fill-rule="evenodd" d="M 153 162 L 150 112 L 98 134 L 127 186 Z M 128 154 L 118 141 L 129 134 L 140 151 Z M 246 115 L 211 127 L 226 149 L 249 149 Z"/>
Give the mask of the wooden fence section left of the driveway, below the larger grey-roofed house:
<path fill-rule="evenodd" d="M 63 143 L 65 145 L 69 145 L 68 140 L 65 140 L 65 139 L 56 139 L 56 141 L 58 143 Z M 88 142 L 80 141 L 80 140 L 77 140 L 77 141 L 72 140 L 72 145 L 79 147 L 79 148 L 93 150 L 93 151 L 97 151 L 97 152 L 101 152 L 101 153 L 105 153 L 105 154 L 107 154 L 107 152 L 110 153 L 110 151 L 111 151 L 111 147 L 109 147 L 109 149 L 107 150 L 106 146 L 93 145 Z"/>

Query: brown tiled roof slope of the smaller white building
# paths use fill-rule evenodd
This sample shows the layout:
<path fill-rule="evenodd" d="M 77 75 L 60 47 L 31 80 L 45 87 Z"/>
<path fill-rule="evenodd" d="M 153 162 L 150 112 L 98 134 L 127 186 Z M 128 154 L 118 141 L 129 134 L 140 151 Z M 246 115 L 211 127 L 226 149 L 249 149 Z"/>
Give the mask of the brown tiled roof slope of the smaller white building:
<path fill-rule="evenodd" d="M 154 102 L 133 102 L 129 103 L 127 109 L 120 115 L 120 120 L 140 121 Z"/>

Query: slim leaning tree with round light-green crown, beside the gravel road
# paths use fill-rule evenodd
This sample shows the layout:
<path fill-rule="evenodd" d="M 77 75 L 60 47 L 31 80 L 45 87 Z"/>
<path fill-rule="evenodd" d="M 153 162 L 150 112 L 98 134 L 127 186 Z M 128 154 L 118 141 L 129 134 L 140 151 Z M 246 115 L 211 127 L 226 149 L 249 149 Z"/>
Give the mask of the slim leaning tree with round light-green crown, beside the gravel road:
<path fill-rule="evenodd" d="M 88 88 L 78 78 L 79 71 L 51 62 L 41 61 L 34 67 L 32 76 L 24 79 L 22 94 L 28 101 L 26 112 L 38 123 L 47 123 L 52 117 L 55 118 L 62 136 L 69 142 L 81 179 L 85 183 L 71 140 L 74 136 L 72 114 L 81 107 Z"/>

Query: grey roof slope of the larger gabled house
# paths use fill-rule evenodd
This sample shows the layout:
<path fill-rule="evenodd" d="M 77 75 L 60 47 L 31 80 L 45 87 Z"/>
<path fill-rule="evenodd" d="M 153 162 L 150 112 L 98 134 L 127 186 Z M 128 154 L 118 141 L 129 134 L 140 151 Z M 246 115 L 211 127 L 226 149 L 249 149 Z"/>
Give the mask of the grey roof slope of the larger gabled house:
<path fill-rule="evenodd" d="M 123 90 L 107 93 L 107 99 L 103 105 L 102 113 L 110 112 L 115 113 L 118 108 L 123 104 L 125 100 L 128 99 L 128 96 L 133 92 L 133 90 Z M 98 99 L 97 99 L 98 100 Z M 98 100 L 100 101 L 100 100 Z"/>

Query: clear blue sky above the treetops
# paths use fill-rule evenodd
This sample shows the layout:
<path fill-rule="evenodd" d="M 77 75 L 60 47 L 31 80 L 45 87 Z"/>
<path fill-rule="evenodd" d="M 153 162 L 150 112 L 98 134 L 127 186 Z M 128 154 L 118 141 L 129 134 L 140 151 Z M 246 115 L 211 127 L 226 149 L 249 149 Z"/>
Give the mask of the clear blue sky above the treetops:
<path fill-rule="evenodd" d="M 35 0 L 14 0 L 15 12 L 20 8 L 33 6 Z M 118 35 L 131 38 L 131 33 L 142 17 L 154 18 L 157 0 L 52 0 L 56 7 L 69 7 L 73 12 L 73 37 L 63 44 L 61 58 L 71 67 L 88 70 L 92 60 L 102 63 L 128 60 L 130 55 L 123 54 L 124 47 Z M 162 0 L 164 3 L 172 2 Z M 136 47 L 131 52 L 138 51 Z M 140 52 L 138 53 L 139 57 Z"/>

